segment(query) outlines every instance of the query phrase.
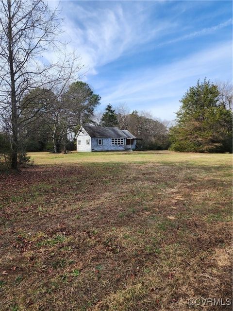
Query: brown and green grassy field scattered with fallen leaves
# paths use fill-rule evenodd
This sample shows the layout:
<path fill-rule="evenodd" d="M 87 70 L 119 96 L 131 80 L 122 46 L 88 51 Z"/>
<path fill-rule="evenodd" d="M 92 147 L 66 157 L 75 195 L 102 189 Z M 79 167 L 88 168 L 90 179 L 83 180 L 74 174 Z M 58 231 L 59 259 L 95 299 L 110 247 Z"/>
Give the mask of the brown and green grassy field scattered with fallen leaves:
<path fill-rule="evenodd" d="M 0 175 L 0 311 L 232 310 L 232 155 L 31 153 Z"/>

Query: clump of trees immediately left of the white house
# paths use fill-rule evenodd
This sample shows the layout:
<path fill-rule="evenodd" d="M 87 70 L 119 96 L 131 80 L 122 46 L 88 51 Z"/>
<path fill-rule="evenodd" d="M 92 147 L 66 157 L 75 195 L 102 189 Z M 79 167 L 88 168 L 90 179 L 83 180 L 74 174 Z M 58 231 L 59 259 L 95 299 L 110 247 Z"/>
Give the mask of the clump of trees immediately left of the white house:
<path fill-rule="evenodd" d="M 66 153 L 69 134 L 75 133 L 81 123 L 92 122 L 94 109 L 100 104 L 100 96 L 94 94 L 87 83 L 78 81 L 72 83 L 60 98 L 51 90 L 37 88 L 29 92 L 23 101 L 30 103 L 24 110 L 24 119 L 34 118 L 34 109 L 43 107 L 33 122 L 35 129 L 28 136 L 27 148 L 29 143 L 33 147 L 33 138 L 37 137 L 37 144 L 51 141 L 54 153 Z M 24 127 L 24 130 L 30 131 L 31 128 Z"/>

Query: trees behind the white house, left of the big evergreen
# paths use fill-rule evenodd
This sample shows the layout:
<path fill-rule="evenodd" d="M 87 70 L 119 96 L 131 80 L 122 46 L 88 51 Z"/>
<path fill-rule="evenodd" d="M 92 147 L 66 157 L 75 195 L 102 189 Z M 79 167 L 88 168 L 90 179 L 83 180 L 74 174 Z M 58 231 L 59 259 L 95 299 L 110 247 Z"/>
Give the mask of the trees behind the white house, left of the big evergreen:
<path fill-rule="evenodd" d="M 60 98 L 47 89 L 38 88 L 29 92 L 21 103 L 21 120 L 29 119 L 30 123 L 25 125 L 25 122 L 22 122 L 24 125 L 19 128 L 19 137 L 24 137 L 18 148 L 19 161 L 25 160 L 27 152 L 67 153 L 75 150 L 74 137 L 81 124 L 127 129 L 137 138 L 143 139 L 144 149 L 168 148 L 166 124 L 155 120 L 150 113 L 136 110 L 130 113 L 125 106 L 113 109 L 112 105 L 108 104 L 98 120 L 95 108 L 99 104 L 100 95 L 94 94 L 91 87 L 81 81 L 72 83 Z M 3 142 L 3 149 L 9 155 L 9 135 L 7 131 L 2 130 L 0 133 L 2 147 Z"/>

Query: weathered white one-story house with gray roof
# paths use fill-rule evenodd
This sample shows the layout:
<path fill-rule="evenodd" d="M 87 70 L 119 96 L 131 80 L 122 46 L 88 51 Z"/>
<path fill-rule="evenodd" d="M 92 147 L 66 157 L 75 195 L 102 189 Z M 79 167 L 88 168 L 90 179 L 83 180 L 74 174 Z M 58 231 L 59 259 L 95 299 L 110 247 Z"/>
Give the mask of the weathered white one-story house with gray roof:
<path fill-rule="evenodd" d="M 77 151 L 124 151 L 135 150 L 136 138 L 127 130 L 118 127 L 81 126 L 75 136 Z"/>

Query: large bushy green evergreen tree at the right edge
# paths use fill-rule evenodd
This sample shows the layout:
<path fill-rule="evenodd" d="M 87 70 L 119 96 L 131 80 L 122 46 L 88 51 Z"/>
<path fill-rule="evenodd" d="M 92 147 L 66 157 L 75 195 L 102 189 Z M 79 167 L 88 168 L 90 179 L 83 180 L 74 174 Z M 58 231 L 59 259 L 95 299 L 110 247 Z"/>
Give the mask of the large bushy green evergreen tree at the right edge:
<path fill-rule="evenodd" d="M 176 125 L 169 132 L 171 150 L 232 152 L 233 114 L 215 84 L 198 81 L 181 103 Z"/>

